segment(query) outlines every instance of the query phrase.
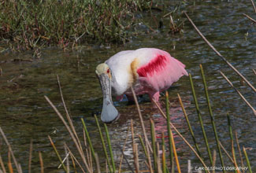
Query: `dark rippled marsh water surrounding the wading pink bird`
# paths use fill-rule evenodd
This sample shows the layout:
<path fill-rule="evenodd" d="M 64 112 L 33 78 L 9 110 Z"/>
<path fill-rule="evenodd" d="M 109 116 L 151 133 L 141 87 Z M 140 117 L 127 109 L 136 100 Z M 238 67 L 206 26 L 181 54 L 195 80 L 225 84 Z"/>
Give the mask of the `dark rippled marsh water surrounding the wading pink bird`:
<path fill-rule="evenodd" d="M 175 2 L 173 2 L 175 3 Z M 250 17 L 256 18 L 253 13 L 250 1 L 232 1 L 232 2 L 186 2 L 181 9 L 186 9 L 188 15 L 194 20 L 195 24 L 202 33 L 212 42 L 213 46 L 221 52 L 247 79 L 255 86 L 255 75 L 252 68 L 256 68 L 256 28 L 255 24 L 250 24 L 250 20 L 243 17 L 247 13 Z M 173 4 L 171 4 L 173 5 Z M 173 9 L 173 8 L 171 8 Z M 162 14 L 154 12 L 156 17 Z M 185 20 L 185 18 L 181 18 Z M 97 64 L 106 61 L 114 53 L 121 50 L 134 50 L 139 47 L 156 47 L 168 51 L 173 57 L 176 57 L 187 65 L 187 72 L 193 76 L 196 94 L 200 109 L 202 109 L 203 121 L 206 125 L 206 133 L 213 149 L 215 140 L 212 132 L 208 110 L 206 109 L 206 99 L 202 79 L 199 72 L 199 64 L 202 64 L 205 73 L 207 85 L 209 87 L 210 100 L 213 105 L 213 113 L 216 120 L 217 131 L 221 138 L 221 143 L 226 149 L 229 148 L 229 135 L 226 114 L 229 112 L 232 119 L 233 131 L 237 131 L 240 146 L 250 148 L 247 154 L 250 158 L 250 164 L 255 170 L 255 116 L 250 108 L 239 98 L 235 90 L 228 86 L 228 83 L 221 77 L 220 71 L 228 76 L 228 79 L 243 93 L 243 96 L 254 106 L 256 106 L 255 94 L 250 88 L 241 85 L 240 79 L 231 68 L 221 61 L 220 57 L 210 50 L 205 42 L 195 33 L 188 21 L 184 24 L 184 33 L 181 35 L 169 34 L 169 19 L 164 20 L 164 28 L 147 35 L 138 35 L 124 46 L 91 46 L 81 48 L 77 52 L 63 52 L 57 49 L 43 50 L 40 59 L 33 59 L 32 53 L 3 53 L 0 56 L 2 76 L 0 76 L 0 126 L 5 131 L 10 144 L 13 147 L 17 160 L 27 170 L 28 151 L 30 140 L 33 139 L 33 161 L 32 170 L 39 171 L 38 152 L 43 154 L 43 161 L 46 172 L 61 172 L 56 168 L 58 159 L 54 154 L 47 135 L 54 139 L 59 151 L 64 155 L 64 143 L 67 142 L 74 150 L 68 132 L 53 109 L 43 97 L 46 95 L 53 101 L 54 105 L 63 115 L 65 111 L 61 103 L 61 97 L 58 89 L 56 75 L 59 76 L 61 87 L 65 98 L 65 103 L 72 115 L 77 132 L 82 138 L 81 118 L 86 121 L 88 130 L 91 133 L 92 142 L 95 144 L 95 150 L 102 153 L 98 137 L 96 124 L 93 115 L 101 111 L 102 94 L 98 79 L 95 76 L 95 67 Z M 146 27 L 139 26 L 139 30 L 147 31 Z M 154 28 L 155 29 L 155 28 Z M 32 61 L 12 61 L 13 59 L 25 59 Z M 179 93 L 186 106 L 187 114 L 191 120 L 191 125 L 202 146 L 204 158 L 207 157 L 201 135 L 198 117 L 195 112 L 195 105 L 191 94 L 190 83 L 187 77 L 180 79 L 169 89 L 171 101 L 171 120 L 179 131 L 190 142 L 191 137 L 177 101 L 176 94 Z M 164 97 L 161 97 L 164 101 Z M 133 119 L 135 134 L 141 134 L 139 118 L 135 105 L 127 105 L 126 101 L 114 103 L 121 112 L 121 118 L 112 124 L 109 124 L 109 134 L 113 139 L 113 152 L 120 156 L 120 148 L 123 146 L 124 139 L 130 120 Z M 153 117 L 156 123 L 157 135 L 161 137 L 161 131 L 166 131 L 162 126 L 165 121 L 157 114 L 147 97 L 140 100 L 143 118 L 146 128 L 149 129 L 149 119 Z M 97 134 L 97 135 L 96 135 Z M 195 155 L 191 153 L 187 145 L 181 139 L 175 136 L 176 149 L 180 158 L 180 164 L 185 171 L 187 160 L 191 160 L 192 166 L 201 166 Z M 1 156 L 7 159 L 6 145 L 3 140 L 0 141 Z M 235 145 L 236 146 L 236 145 Z M 215 148 L 216 149 L 216 148 Z M 228 149 L 230 152 L 230 149 Z M 236 150 L 236 153 L 237 150 Z M 128 140 L 125 154 L 132 163 L 132 143 Z M 103 154 L 99 154 L 100 158 Z M 224 163 L 232 166 L 228 157 L 224 155 Z M 140 158 L 143 157 L 141 154 Z M 104 157 L 103 157 L 104 158 Z M 239 156 L 237 155 L 237 158 Z M 102 159 L 103 160 L 103 159 Z M 217 158 L 217 163 L 218 162 Z M 239 159 L 238 159 L 239 160 Z M 243 160 L 245 163 L 245 160 Z M 239 161 L 238 161 L 239 162 Z M 240 162 L 239 162 L 240 163 Z M 206 161 L 206 164 L 209 163 Z M 124 162 L 124 167 L 127 164 Z"/>

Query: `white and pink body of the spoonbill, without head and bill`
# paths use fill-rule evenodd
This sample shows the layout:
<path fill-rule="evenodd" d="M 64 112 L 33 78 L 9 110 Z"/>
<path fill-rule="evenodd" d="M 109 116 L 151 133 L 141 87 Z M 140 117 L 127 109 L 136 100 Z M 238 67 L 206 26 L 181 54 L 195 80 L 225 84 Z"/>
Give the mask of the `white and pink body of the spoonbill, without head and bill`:
<path fill-rule="evenodd" d="M 137 61 L 136 76 L 132 78 L 136 80 L 129 83 L 130 75 L 135 74 L 128 74 L 127 68 L 134 68 L 131 67 L 134 61 Z M 123 94 L 132 98 L 129 90 L 132 84 L 137 95 L 149 94 L 151 100 L 154 98 L 158 101 L 159 92 L 167 90 L 182 75 L 187 75 L 184 64 L 164 50 L 154 48 L 122 51 L 110 57 L 106 64 L 109 65 L 116 80 L 112 87 L 113 94 L 116 94 L 118 99 L 123 98 Z"/>

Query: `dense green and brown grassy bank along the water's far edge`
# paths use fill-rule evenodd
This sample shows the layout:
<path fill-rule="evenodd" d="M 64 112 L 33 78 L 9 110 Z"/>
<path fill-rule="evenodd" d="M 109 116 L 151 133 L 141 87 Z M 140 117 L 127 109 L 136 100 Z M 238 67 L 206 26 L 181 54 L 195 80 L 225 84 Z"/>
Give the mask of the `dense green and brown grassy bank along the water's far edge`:
<path fill-rule="evenodd" d="M 83 42 L 125 42 L 135 12 L 150 0 L 1 1 L 0 39 L 12 50 L 75 47 Z"/>

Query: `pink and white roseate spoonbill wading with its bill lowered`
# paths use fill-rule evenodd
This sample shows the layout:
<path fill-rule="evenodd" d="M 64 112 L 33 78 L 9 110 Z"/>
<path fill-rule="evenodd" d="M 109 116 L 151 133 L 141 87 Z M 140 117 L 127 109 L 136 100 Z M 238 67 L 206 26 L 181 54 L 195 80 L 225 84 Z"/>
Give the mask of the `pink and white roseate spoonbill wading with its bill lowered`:
<path fill-rule="evenodd" d="M 95 73 L 103 94 L 102 122 L 111 123 L 120 116 L 112 94 L 117 100 L 124 94 L 132 98 L 132 86 L 136 95 L 148 94 L 151 101 L 158 102 L 161 91 L 187 75 L 185 67 L 165 50 L 156 48 L 124 50 L 98 64 Z"/>

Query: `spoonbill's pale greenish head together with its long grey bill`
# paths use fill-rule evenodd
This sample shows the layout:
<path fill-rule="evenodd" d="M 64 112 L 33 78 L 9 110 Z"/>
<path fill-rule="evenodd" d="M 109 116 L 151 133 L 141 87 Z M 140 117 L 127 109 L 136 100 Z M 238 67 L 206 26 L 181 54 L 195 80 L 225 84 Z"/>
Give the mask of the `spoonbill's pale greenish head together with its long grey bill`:
<path fill-rule="evenodd" d="M 95 72 L 102 86 L 103 107 L 101 119 L 104 123 L 111 123 L 119 117 L 117 109 L 113 106 L 111 96 L 111 69 L 108 64 L 103 63 L 98 64 Z"/>

